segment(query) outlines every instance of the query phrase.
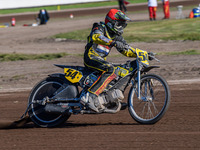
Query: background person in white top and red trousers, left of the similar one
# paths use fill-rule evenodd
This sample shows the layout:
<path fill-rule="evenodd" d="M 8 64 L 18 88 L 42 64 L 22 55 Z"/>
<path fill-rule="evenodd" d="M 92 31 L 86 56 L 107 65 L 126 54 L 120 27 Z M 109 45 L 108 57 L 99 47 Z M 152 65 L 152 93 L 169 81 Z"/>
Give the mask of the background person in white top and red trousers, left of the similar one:
<path fill-rule="evenodd" d="M 157 0 L 148 0 L 149 19 L 156 20 Z"/>

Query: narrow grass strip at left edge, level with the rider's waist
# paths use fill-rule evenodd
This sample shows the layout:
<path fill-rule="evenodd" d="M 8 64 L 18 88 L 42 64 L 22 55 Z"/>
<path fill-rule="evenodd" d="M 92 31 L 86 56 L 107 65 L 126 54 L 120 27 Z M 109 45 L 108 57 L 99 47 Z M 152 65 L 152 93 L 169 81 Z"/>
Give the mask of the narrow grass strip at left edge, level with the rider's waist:
<path fill-rule="evenodd" d="M 67 53 L 55 54 L 0 54 L 0 62 L 3 61 L 18 61 L 18 60 L 51 60 L 67 56 Z"/>

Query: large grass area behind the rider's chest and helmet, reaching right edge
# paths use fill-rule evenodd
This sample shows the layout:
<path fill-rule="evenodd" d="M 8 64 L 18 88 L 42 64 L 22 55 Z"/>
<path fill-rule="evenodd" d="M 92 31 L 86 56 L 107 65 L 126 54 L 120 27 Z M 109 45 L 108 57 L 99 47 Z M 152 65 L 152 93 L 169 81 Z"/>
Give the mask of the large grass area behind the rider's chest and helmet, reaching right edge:
<path fill-rule="evenodd" d="M 57 34 L 53 38 L 86 40 L 89 29 Z M 81 33 L 81 34 L 80 34 Z M 157 42 L 160 40 L 200 40 L 200 20 L 161 20 L 130 22 L 124 30 L 123 37 L 128 42 Z"/>

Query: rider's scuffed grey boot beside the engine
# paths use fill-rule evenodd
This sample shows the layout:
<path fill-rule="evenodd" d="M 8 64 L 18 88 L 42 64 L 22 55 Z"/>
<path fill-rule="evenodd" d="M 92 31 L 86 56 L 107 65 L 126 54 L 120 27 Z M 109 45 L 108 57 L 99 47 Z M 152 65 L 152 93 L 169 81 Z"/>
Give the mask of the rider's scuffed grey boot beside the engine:
<path fill-rule="evenodd" d="M 90 109 L 92 109 L 95 112 L 99 112 L 98 108 L 95 106 L 97 99 L 98 98 L 95 94 L 87 92 L 81 97 L 80 103 L 83 105 L 87 105 Z"/>

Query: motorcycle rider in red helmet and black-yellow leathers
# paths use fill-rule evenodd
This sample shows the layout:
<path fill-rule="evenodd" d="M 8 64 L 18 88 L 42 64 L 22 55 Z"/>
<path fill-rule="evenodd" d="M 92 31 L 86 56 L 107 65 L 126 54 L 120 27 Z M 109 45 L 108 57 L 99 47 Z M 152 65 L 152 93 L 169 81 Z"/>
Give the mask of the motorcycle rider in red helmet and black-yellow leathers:
<path fill-rule="evenodd" d="M 94 23 L 88 43 L 85 47 L 84 65 L 92 70 L 101 71 L 101 76 L 88 89 L 88 92 L 81 97 L 81 103 L 87 105 L 95 112 L 99 112 L 98 95 L 103 92 L 106 86 L 115 78 L 117 73 L 115 67 L 106 61 L 106 56 L 114 46 L 127 57 L 136 57 L 135 49 L 130 48 L 121 36 L 123 29 L 127 26 L 127 17 L 121 10 L 111 9 L 105 17 L 105 22 Z"/>

